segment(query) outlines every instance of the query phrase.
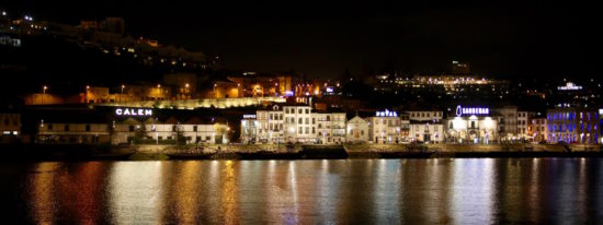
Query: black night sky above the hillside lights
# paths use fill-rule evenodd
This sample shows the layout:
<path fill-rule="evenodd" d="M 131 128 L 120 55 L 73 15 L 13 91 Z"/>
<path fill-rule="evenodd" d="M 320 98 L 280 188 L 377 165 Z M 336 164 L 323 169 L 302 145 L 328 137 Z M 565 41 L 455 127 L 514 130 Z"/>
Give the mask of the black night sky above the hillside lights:
<path fill-rule="evenodd" d="M 196 2 L 193 4 L 192 2 Z M 216 3 L 218 2 L 218 3 Z M 435 72 L 466 61 L 492 76 L 593 76 L 595 7 L 524 1 L 13 1 L 11 12 L 77 23 L 123 16 L 128 33 L 207 55 L 235 70 L 337 76 Z M 422 2 L 422 3 L 416 3 Z M 595 40 L 595 38 L 598 40 Z M 599 51 L 596 51 L 599 52 Z"/>

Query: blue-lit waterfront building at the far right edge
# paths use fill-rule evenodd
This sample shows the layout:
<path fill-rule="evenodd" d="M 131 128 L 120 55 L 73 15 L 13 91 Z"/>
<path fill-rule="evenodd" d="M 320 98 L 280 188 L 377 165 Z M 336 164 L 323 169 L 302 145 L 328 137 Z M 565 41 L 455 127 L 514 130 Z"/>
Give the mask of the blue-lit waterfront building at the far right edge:
<path fill-rule="evenodd" d="M 584 108 L 559 107 L 547 110 L 547 142 L 599 143 L 600 116 Z"/>

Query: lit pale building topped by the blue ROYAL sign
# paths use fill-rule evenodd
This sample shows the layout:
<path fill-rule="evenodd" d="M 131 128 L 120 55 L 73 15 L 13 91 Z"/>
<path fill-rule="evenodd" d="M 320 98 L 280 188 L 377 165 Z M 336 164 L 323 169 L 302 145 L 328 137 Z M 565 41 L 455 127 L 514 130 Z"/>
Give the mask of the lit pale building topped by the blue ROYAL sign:
<path fill-rule="evenodd" d="M 402 141 L 401 121 L 397 111 L 377 111 L 368 117 L 368 139 L 373 143 L 399 143 Z"/>

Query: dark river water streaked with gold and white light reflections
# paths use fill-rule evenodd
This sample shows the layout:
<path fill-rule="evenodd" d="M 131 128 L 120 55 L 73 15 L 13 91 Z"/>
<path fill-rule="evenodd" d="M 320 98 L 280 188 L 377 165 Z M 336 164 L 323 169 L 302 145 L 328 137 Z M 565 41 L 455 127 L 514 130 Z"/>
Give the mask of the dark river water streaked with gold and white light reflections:
<path fill-rule="evenodd" d="M 603 221 L 602 158 L 0 163 L 2 220 L 104 224 Z"/>

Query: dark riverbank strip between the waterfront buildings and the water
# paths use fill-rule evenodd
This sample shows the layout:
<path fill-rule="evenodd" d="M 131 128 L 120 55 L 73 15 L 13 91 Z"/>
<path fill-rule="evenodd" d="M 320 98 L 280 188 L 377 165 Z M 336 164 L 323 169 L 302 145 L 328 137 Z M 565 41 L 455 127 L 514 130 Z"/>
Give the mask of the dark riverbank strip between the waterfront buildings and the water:
<path fill-rule="evenodd" d="M 343 159 L 428 157 L 603 157 L 584 144 L 223 144 L 0 145 L 4 161 Z"/>

